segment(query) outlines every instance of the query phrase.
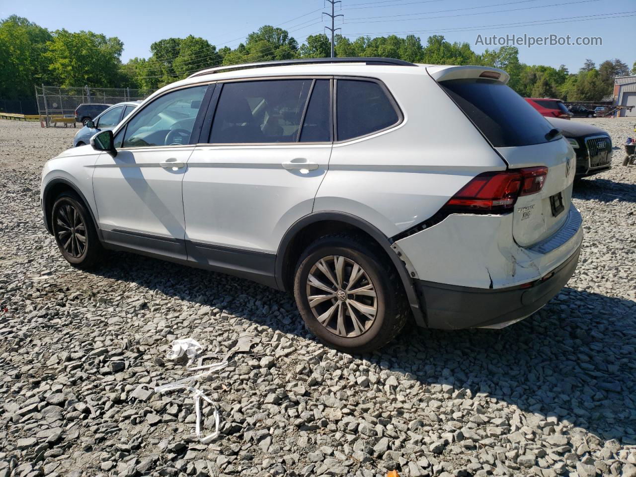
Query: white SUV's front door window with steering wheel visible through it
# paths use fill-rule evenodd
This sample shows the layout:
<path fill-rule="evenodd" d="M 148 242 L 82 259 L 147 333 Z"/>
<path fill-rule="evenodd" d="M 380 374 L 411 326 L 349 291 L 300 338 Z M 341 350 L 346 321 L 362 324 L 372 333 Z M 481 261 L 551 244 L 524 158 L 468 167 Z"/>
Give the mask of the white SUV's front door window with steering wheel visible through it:
<path fill-rule="evenodd" d="M 144 107 L 125 127 L 123 140 L 118 133 L 115 147 L 144 148 L 190 144 L 207 85 L 166 93 Z"/>

